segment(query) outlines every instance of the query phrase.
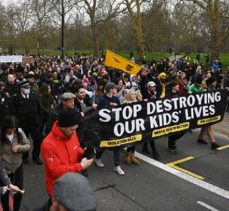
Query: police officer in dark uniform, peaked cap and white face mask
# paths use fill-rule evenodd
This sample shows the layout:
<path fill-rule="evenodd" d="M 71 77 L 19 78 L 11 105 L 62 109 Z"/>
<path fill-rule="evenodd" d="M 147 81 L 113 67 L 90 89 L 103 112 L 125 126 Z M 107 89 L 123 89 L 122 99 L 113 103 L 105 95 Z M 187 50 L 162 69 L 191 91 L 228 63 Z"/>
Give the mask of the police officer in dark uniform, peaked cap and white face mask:
<path fill-rule="evenodd" d="M 28 81 L 19 84 L 19 93 L 13 98 L 14 114 L 19 119 L 19 126 L 23 129 L 26 136 L 33 139 L 33 161 L 42 165 L 39 158 L 40 145 L 42 142 L 41 117 L 42 107 L 38 97 L 31 93 Z M 23 154 L 23 163 L 29 162 L 29 152 Z"/>

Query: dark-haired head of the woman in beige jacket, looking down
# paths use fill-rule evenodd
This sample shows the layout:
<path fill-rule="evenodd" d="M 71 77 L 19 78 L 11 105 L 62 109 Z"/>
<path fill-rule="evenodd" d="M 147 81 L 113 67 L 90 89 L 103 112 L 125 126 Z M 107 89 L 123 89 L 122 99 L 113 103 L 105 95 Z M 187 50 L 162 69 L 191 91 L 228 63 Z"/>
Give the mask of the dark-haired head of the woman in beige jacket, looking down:
<path fill-rule="evenodd" d="M 6 116 L 1 128 L 1 141 L 12 140 L 14 134 L 18 135 L 18 141 L 21 141 L 21 135 L 18 132 L 18 119 L 16 116 Z"/>

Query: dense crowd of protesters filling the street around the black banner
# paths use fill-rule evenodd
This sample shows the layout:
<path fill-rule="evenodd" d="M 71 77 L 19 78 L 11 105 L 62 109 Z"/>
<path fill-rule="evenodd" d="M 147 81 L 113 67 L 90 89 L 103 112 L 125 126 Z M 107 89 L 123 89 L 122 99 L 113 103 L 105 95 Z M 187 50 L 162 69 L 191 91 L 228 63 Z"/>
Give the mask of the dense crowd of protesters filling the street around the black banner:
<path fill-rule="evenodd" d="M 22 189 L 22 162 L 24 164 L 29 162 L 30 142 L 28 139 L 33 140 L 32 159 L 34 163 L 42 165 L 40 159 L 42 140 L 47 140 L 49 139 L 47 137 L 51 136 L 53 139 L 58 139 L 55 134 L 63 132 L 66 135 L 68 133 L 65 126 L 73 127 L 74 124 L 65 120 L 61 122 L 62 125 L 58 125 L 56 120 L 63 115 L 63 111 L 71 110 L 71 112 L 80 114 L 78 120 L 73 121 L 77 123 L 77 127 L 73 129 L 79 127 L 77 143 L 78 137 L 80 143 L 77 167 L 74 168 L 77 169 L 77 172 L 86 171 L 92 161 L 84 160 L 82 162 L 79 159 L 82 157 L 83 149 L 87 147 L 81 141 L 81 132 L 84 127 L 83 118 L 91 110 L 224 88 L 229 92 L 229 72 L 226 75 L 223 74 L 222 64 L 219 61 L 214 61 L 212 65 L 206 66 L 201 65 L 197 60 L 190 63 L 186 58 L 177 61 L 162 58 L 159 61 L 144 62 L 142 70 L 137 75 L 129 75 L 106 67 L 104 58 L 87 56 L 66 57 L 64 60 L 60 57 L 40 56 L 35 57 L 32 64 L 3 63 L 0 64 L 1 160 L 6 163 L 5 169 L 8 176 L 18 178 L 14 184 Z M 82 124 L 78 122 L 79 120 L 82 120 Z M 72 132 L 73 129 L 70 129 Z M 211 126 L 201 129 L 197 142 L 207 144 L 203 139 L 204 132 L 207 132 L 209 136 L 211 149 L 215 150 L 219 147 L 215 142 Z M 183 135 L 182 132 L 168 137 L 168 149 L 171 153 L 177 153 L 176 141 Z M 143 137 L 143 139 L 142 151 L 146 154 L 152 153 L 152 157 L 159 160 L 160 154 L 156 149 L 155 140 L 150 136 Z M 43 151 L 45 148 L 48 148 L 49 151 L 55 150 L 52 143 L 48 144 L 48 141 L 42 146 Z M 59 153 L 61 154 L 63 151 L 60 148 Z M 112 150 L 114 154 L 113 170 L 119 175 L 124 175 L 120 150 L 118 147 Z M 126 149 L 124 155 L 126 164 L 139 164 L 134 152 L 134 146 Z M 6 153 L 8 154 L 5 155 Z M 104 150 L 97 149 L 94 159 L 95 164 L 100 168 L 104 167 L 103 153 Z M 16 161 L 11 163 L 8 157 Z M 48 161 L 44 159 L 44 162 L 49 162 L 50 158 L 47 159 Z M 49 171 L 52 171 L 52 168 L 54 168 L 53 165 L 48 166 Z M 63 166 L 55 170 L 55 178 L 51 178 L 52 176 L 46 172 L 52 184 L 62 175 L 62 168 Z M 49 186 L 48 190 L 48 193 L 52 194 L 52 187 Z M 3 201 L 8 200 L 7 196 L 3 196 L 2 199 Z M 20 201 L 21 196 L 18 199 L 15 198 L 15 206 L 20 207 Z"/>

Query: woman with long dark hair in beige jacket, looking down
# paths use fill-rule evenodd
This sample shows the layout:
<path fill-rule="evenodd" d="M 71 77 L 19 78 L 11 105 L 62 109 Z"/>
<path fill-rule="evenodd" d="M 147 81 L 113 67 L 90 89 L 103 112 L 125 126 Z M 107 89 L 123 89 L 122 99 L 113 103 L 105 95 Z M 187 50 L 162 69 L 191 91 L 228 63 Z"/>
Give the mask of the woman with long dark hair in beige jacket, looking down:
<path fill-rule="evenodd" d="M 13 185 L 23 189 L 22 153 L 27 152 L 30 143 L 25 133 L 18 127 L 15 116 L 7 116 L 3 120 L 0 133 L 0 152 L 3 166 Z M 17 192 L 13 196 L 13 210 L 20 209 L 22 194 Z M 1 196 L 3 210 L 9 210 L 9 192 Z"/>

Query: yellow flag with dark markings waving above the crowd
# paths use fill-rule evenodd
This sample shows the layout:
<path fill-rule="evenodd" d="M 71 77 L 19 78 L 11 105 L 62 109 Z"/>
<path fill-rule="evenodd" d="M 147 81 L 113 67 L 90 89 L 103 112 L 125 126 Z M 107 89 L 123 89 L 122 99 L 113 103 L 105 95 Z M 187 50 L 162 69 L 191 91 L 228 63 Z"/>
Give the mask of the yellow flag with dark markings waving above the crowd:
<path fill-rule="evenodd" d="M 109 50 L 106 51 L 105 65 L 122 70 L 129 74 L 137 74 L 142 69 L 140 65 L 137 65 Z"/>

